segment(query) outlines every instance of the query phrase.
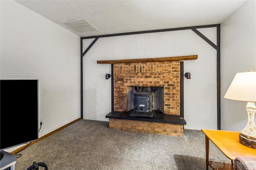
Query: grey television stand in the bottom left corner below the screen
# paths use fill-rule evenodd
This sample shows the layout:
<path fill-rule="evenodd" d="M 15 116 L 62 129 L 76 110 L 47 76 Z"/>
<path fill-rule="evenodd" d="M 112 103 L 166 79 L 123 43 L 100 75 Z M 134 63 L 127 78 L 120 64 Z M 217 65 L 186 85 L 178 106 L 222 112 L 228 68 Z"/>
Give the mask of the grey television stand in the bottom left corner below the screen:
<path fill-rule="evenodd" d="M 16 155 L 6 151 L 1 151 L 0 170 L 14 170 Z"/>

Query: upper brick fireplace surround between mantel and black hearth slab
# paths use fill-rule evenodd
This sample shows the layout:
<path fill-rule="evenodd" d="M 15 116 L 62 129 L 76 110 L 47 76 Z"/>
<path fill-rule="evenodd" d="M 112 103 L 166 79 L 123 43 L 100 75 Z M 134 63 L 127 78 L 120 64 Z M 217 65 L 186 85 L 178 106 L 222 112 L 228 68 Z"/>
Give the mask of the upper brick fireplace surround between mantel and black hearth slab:
<path fill-rule="evenodd" d="M 114 64 L 114 111 L 127 111 L 127 86 L 164 87 L 164 114 L 180 115 L 180 61 Z"/>

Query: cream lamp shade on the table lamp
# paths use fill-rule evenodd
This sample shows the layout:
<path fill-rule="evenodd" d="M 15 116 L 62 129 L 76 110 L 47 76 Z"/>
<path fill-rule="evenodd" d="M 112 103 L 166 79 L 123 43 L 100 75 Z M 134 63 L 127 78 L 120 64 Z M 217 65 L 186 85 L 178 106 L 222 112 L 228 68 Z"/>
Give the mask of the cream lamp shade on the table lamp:
<path fill-rule="evenodd" d="M 237 101 L 256 102 L 256 71 L 236 73 L 224 98 Z"/>

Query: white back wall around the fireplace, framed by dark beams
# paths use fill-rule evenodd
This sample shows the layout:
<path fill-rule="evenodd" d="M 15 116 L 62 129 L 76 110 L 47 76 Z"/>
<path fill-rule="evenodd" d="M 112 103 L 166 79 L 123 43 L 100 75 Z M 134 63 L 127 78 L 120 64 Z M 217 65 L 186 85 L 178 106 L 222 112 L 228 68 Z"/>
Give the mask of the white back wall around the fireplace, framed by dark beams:
<path fill-rule="evenodd" d="M 199 29 L 216 44 L 216 28 Z M 84 49 L 92 40 L 84 40 Z M 111 64 L 97 64 L 97 60 L 134 59 L 198 55 L 198 59 L 184 61 L 185 128 L 217 128 L 216 50 L 192 30 L 138 34 L 100 38 L 83 59 L 84 114 L 83 119 L 108 121 L 111 111 Z"/>

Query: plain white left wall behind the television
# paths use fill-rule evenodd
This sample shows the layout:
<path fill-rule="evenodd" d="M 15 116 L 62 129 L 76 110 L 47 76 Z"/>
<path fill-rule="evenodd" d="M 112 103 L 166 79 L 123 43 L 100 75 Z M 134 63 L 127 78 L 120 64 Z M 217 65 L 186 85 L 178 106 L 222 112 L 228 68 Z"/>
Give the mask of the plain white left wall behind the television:
<path fill-rule="evenodd" d="M 80 37 L 15 1 L 0 3 L 0 78 L 39 79 L 41 137 L 80 118 Z"/>

